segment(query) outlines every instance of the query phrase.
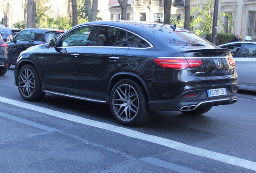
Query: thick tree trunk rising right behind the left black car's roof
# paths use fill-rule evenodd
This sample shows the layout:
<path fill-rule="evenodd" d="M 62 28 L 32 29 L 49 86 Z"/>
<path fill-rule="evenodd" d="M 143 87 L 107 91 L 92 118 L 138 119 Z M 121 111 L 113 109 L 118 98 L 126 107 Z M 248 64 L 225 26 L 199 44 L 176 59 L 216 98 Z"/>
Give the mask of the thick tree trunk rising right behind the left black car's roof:
<path fill-rule="evenodd" d="M 35 28 L 36 0 L 27 0 L 27 28 Z"/>

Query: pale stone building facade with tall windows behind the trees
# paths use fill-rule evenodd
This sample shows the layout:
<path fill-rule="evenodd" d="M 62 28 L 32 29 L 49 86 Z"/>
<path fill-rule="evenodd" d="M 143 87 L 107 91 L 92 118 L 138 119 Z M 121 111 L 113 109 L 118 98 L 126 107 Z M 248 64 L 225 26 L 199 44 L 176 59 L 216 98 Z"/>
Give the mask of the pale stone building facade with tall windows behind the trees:
<path fill-rule="evenodd" d="M 204 8 L 210 0 L 190 0 L 191 8 L 201 4 Z M 127 20 L 145 20 L 150 22 L 163 22 L 164 0 L 128 0 Z M 171 17 L 182 19 L 185 15 L 184 0 L 172 0 Z M 230 13 L 233 16 L 234 26 L 231 26 L 231 19 L 228 16 L 219 16 L 224 24 L 217 26 L 217 32 L 236 33 L 242 36 L 251 36 L 256 41 L 256 0 L 219 0 L 219 14 Z M 121 8 L 118 0 L 109 0 L 109 19 L 120 20 Z M 210 13 L 213 13 L 210 11 Z M 191 14 L 190 18 L 195 18 Z M 194 26 L 196 27 L 196 26 Z"/>

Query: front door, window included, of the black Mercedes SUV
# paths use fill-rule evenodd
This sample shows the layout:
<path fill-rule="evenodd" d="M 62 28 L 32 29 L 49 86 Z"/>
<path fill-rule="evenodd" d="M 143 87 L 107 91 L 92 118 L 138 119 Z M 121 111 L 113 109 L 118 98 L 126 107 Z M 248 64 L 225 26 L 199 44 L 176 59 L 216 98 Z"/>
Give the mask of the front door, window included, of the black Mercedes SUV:
<path fill-rule="evenodd" d="M 88 33 L 92 26 L 81 26 L 58 38 L 56 48 L 49 48 L 44 56 L 45 84 L 55 90 L 81 91 L 80 63 L 86 50 Z"/>

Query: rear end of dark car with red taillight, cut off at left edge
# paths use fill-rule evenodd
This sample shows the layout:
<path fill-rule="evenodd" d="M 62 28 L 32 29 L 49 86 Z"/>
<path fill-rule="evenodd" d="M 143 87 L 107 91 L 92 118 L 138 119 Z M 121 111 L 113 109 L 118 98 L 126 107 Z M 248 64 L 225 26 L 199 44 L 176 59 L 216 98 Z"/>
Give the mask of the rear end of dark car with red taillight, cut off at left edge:
<path fill-rule="evenodd" d="M 7 72 L 9 66 L 9 52 L 6 42 L 0 40 L 0 75 Z"/>

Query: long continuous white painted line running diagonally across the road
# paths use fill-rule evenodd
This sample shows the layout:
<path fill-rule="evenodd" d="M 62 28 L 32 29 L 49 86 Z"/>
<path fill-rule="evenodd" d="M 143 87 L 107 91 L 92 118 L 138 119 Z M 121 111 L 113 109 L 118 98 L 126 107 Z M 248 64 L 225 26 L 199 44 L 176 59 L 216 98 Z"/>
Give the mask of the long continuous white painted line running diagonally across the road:
<path fill-rule="evenodd" d="M 243 167 L 246 169 L 250 169 L 250 170 L 254 170 L 256 171 L 256 162 L 252 162 L 252 161 L 248 161 L 245 159 L 240 159 L 238 157 L 233 157 L 233 156 L 229 156 L 229 155 L 224 155 L 221 153 L 217 153 L 214 151 L 209 151 L 206 149 L 200 149 L 198 147 L 193 147 L 190 145 L 186 145 L 184 143 L 180 143 L 177 141 L 172 141 L 169 139 L 165 139 L 162 137 L 157 137 L 157 136 L 153 136 L 153 135 L 148 135 L 145 133 L 140 133 L 138 131 L 134 131 L 134 130 L 130 130 L 130 129 L 126 129 L 124 127 L 118 127 L 115 125 L 110 125 L 107 123 L 102 123 L 102 122 L 98 122 L 98 121 L 94 121 L 94 120 L 90 120 L 90 119 L 85 119 L 82 117 L 77 117 L 75 115 L 71 115 L 71 114 L 67 114 L 67 113 L 62 113 L 59 111 L 54 111 L 51 109 L 47 109 L 47 108 L 43 108 L 43 107 L 39 107 L 39 106 L 35 106 L 35 105 L 31 105 L 31 104 L 27 104 L 27 103 L 23 103 L 20 101 L 15 101 L 12 99 L 7 99 L 5 97 L 0 97 L 0 101 L 3 103 L 7 103 L 10 105 L 14 105 L 17 107 L 22 107 L 25 109 L 29 109 L 32 111 L 37 111 L 40 113 L 44 113 L 47 115 L 51 115 L 54 117 L 58 117 L 61 119 L 66 119 L 68 121 L 73 121 L 76 123 L 81 123 L 81 124 L 85 124 L 85 125 L 89 125 L 92 127 L 97 127 L 100 129 L 105 129 L 108 131 L 112 131 L 115 133 L 119 133 L 128 137 L 132 137 L 132 138 L 136 138 L 136 139 L 141 139 L 144 141 L 148 141 L 151 143 L 155 143 L 155 144 L 159 144 L 159 145 L 163 145 L 165 147 L 169 147 L 178 151 L 183 151 L 186 153 L 190 153 L 190 154 L 194 154 L 194 155 L 198 155 L 201 157 L 205 157 L 205 158 L 209 158 L 209 159 L 213 159 L 216 161 L 221 161 L 224 163 L 228 163 L 231 165 L 235 165 L 238 167 Z"/>

